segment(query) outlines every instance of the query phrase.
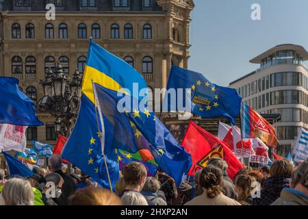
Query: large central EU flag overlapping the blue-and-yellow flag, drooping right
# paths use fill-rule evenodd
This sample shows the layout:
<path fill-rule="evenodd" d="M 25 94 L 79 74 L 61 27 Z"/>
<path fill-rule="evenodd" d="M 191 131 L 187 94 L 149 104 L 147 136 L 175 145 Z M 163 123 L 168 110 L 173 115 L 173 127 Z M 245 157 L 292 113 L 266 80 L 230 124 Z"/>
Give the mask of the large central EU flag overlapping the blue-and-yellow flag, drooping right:
<path fill-rule="evenodd" d="M 94 83 L 94 96 L 105 127 L 105 151 L 114 148 L 136 153 L 147 149 L 164 172 L 175 179 L 177 185 L 187 177 L 192 157 L 175 140 L 164 124 L 140 101 L 127 94 L 103 88 Z M 126 99 L 125 104 L 120 101 Z M 134 107 L 138 107 L 136 109 Z M 133 127 L 136 126 L 136 129 Z M 143 136 L 144 138 L 135 138 Z"/>

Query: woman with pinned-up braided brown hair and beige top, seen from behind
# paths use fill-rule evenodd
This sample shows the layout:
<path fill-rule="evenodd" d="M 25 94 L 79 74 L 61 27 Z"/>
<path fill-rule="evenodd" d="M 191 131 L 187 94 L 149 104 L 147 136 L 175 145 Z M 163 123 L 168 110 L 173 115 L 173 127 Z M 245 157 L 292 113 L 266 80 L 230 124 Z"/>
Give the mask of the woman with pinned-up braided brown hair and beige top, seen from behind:
<path fill-rule="evenodd" d="M 240 205 L 223 194 L 222 181 L 222 170 L 212 164 L 207 165 L 200 175 L 203 194 L 196 196 L 185 205 Z"/>

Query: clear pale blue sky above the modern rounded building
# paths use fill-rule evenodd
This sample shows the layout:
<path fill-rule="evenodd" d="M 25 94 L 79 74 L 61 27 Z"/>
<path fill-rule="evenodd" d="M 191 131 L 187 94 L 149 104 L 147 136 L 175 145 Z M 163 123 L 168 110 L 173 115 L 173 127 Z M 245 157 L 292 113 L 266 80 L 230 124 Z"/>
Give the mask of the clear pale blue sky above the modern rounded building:
<path fill-rule="evenodd" d="M 258 68 L 249 60 L 278 44 L 308 50 L 308 0 L 194 0 L 189 68 L 228 86 Z M 261 5 L 261 21 L 251 5 Z"/>

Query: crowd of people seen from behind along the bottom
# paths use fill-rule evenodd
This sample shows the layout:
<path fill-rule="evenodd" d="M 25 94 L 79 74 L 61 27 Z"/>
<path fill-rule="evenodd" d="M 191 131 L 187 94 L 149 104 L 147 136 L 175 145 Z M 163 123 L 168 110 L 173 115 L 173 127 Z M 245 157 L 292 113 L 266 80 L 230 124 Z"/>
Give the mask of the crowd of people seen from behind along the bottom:
<path fill-rule="evenodd" d="M 27 179 L 0 169 L 0 205 L 308 205 L 308 159 L 295 166 L 279 159 L 270 167 L 245 167 L 234 179 L 227 168 L 213 157 L 177 187 L 166 173 L 147 177 L 143 164 L 131 162 L 110 192 L 78 168 L 66 174 L 62 158 L 53 155 L 47 170 L 33 168 Z"/>

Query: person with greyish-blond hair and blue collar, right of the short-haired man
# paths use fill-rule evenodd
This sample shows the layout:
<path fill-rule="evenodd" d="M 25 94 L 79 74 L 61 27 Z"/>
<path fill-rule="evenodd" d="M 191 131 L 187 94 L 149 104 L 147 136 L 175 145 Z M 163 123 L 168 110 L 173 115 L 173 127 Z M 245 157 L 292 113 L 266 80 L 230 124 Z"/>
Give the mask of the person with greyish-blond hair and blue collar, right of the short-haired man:
<path fill-rule="evenodd" d="M 159 181 L 154 177 L 146 177 L 146 181 L 142 188 L 142 195 L 147 201 L 152 201 L 154 205 L 167 205 L 164 197 L 159 196 Z"/>

